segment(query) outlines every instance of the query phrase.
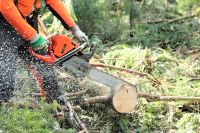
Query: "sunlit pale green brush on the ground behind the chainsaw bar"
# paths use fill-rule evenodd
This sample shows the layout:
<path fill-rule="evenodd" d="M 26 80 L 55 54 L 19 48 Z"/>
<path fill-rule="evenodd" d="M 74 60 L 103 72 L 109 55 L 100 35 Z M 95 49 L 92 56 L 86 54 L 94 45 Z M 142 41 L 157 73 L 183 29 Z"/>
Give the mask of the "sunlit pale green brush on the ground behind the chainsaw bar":
<path fill-rule="evenodd" d="M 103 58 L 108 65 L 149 74 L 139 76 L 110 70 L 116 76 L 138 83 L 140 91 L 159 91 L 163 95 L 198 96 L 200 82 L 194 79 L 200 75 L 199 53 L 190 54 L 192 51 L 185 51 L 184 48 L 176 51 L 161 48 L 142 49 L 122 44 L 112 47 Z"/>

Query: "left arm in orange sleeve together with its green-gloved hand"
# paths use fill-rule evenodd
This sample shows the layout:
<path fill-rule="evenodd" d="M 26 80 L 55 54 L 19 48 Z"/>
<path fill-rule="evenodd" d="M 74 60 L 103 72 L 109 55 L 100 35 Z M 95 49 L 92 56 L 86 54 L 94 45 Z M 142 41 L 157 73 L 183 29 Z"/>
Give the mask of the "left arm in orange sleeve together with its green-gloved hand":
<path fill-rule="evenodd" d="M 3 17 L 25 40 L 30 41 L 33 51 L 46 54 L 48 42 L 24 20 L 13 0 L 0 1 L 0 7 Z"/>

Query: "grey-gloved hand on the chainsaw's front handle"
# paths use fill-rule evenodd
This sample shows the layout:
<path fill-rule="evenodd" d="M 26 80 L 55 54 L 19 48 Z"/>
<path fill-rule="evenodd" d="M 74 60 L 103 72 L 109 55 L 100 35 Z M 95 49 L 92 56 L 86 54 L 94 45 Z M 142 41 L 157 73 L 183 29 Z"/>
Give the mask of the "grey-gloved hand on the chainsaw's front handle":
<path fill-rule="evenodd" d="M 79 42 L 87 42 L 88 41 L 88 37 L 85 35 L 84 32 L 82 32 L 80 30 L 80 28 L 74 24 L 72 27 L 71 27 L 71 32 L 74 34 L 74 37 L 78 39 Z"/>

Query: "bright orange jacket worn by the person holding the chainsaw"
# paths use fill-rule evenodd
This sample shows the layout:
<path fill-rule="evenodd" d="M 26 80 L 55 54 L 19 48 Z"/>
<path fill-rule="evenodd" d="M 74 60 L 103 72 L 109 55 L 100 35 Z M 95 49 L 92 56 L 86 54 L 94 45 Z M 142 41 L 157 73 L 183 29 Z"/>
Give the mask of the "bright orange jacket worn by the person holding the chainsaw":
<path fill-rule="evenodd" d="M 61 0 L 44 0 L 51 12 L 62 22 L 66 29 L 75 23 Z M 0 0 L 0 12 L 7 22 L 27 41 L 31 40 L 37 31 L 24 19 L 35 8 L 40 7 L 40 0 Z"/>

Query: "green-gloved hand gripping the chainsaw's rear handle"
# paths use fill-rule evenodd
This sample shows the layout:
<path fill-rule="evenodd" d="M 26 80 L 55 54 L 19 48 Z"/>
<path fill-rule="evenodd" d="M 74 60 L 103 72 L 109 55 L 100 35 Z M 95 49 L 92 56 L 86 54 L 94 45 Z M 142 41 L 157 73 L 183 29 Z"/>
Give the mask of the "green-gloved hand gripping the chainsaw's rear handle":
<path fill-rule="evenodd" d="M 41 35 L 37 34 L 30 41 L 33 51 L 40 55 L 47 55 L 48 52 L 48 41 L 44 39 Z"/>

